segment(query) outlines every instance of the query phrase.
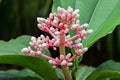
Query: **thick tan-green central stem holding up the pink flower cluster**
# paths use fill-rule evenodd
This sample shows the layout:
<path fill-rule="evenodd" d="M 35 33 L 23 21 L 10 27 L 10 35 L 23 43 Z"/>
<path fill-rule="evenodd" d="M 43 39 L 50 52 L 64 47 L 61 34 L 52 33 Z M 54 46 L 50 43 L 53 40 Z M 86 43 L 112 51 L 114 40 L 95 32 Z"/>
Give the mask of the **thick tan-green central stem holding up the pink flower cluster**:
<path fill-rule="evenodd" d="M 65 53 L 65 46 L 64 46 L 64 41 L 65 41 L 65 36 L 64 35 L 60 35 L 60 55 L 66 55 Z M 67 69 L 65 66 L 61 66 L 61 69 L 63 71 L 65 80 L 72 80 L 69 74 L 69 69 Z"/>

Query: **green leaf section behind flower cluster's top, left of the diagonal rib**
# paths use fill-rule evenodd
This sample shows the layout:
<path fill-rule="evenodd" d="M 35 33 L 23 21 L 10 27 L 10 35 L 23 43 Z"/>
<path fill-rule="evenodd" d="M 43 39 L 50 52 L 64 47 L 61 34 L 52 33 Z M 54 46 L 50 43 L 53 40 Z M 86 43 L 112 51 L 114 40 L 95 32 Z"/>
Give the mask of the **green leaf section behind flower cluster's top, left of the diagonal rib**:
<path fill-rule="evenodd" d="M 89 23 L 91 15 L 97 5 L 98 0 L 53 0 L 52 12 L 57 12 L 57 7 L 67 9 L 71 6 L 73 9 L 80 10 L 80 23 Z M 71 34 L 74 32 L 71 32 Z"/>

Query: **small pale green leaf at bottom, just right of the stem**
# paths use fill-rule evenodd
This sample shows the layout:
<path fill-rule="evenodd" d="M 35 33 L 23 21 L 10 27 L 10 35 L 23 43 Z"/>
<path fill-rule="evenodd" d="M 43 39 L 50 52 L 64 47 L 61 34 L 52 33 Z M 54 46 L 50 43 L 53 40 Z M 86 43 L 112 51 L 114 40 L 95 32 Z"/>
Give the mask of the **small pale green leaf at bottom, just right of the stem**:
<path fill-rule="evenodd" d="M 94 71 L 94 68 L 83 66 L 76 72 L 76 80 L 86 80 L 87 77 Z"/>

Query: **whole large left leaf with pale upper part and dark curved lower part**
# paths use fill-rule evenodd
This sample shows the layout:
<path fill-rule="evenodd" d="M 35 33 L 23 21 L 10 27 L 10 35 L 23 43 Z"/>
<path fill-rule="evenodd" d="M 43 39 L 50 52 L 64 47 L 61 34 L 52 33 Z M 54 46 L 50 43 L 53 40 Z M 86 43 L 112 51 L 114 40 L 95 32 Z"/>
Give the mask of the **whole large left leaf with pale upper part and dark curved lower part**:
<path fill-rule="evenodd" d="M 0 41 L 0 63 L 29 68 L 44 79 L 56 79 L 52 66 L 39 57 L 25 56 L 21 49 L 29 46 L 30 36 L 21 36 L 9 42 Z"/>

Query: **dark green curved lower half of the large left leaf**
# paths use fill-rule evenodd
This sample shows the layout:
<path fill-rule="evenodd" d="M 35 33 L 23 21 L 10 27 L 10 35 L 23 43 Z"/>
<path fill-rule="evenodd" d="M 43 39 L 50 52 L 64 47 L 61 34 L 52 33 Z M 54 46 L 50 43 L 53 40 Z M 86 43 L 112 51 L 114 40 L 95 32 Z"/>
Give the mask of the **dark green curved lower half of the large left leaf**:
<path fill-rule="evenodd" d="M 15 64 L 29 68 L 44 79 L 56 79 L 57 75 L 51 65 L 41 58 L 24 55 L 0 55 L 0 63 Z"/>

